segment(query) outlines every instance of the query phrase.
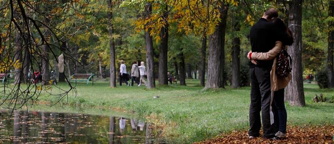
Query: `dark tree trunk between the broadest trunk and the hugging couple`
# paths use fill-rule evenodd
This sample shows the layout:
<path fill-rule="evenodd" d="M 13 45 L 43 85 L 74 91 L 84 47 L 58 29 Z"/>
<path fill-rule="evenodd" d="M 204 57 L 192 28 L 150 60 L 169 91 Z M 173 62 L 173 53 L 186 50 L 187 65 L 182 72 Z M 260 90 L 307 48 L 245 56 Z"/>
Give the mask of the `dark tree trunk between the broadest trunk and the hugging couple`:
<path fill-rule="evenodd" d="M 232 41 L 232 82 L 231 87 L 240 87 L 240 38 L 236 32 L 240 30 L 239 14 L 234 12 L 233 23 L 233 41 Z"/>

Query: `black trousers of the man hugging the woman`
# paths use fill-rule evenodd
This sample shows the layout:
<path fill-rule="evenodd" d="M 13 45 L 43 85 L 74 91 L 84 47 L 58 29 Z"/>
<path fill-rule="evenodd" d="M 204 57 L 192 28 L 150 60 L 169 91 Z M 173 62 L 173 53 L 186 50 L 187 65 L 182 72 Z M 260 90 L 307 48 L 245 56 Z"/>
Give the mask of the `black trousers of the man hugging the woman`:
<path fill-rule="evenodd" d="M 269 68 L 254 67 L 250 68 L 251 77 L 251 104 L 249 108 L 250 136 L 259 136 L 261 128 L 260 111 L 262 112 L 263 136 L 271 138 L 278 131 L 276 124 L 270 123 L 270 98 L 271 98 L 271 82 Z M 277 109 L 272 104 L 275 121 L 277 117 Z"/>

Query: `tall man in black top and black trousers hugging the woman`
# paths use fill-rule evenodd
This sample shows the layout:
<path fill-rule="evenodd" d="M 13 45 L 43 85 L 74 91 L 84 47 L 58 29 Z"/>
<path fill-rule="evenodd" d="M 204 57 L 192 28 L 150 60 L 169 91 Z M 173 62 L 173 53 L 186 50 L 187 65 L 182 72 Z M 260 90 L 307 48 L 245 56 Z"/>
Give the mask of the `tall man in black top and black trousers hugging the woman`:
<path fill-rule="evenodd" d="M 268 52 L 275 46 L 275 41 L 280 40 L 278 37 L 281 36 L 279 36 L 280 33 L 277 31 L 276 25 L 270 21 L 274 17 L 278 17 L 278 12 L 275 8 L 270 8 L 251 28 L 250 41 L 252 45 L 252 51 Z M 249 138 L 260 135 L 261 110 L 264 138 L 273 138 L 277 132 L 276 126 L 273 124 L 273 121 L 271 122 L 270 119 L 270 71 L 272 66 L 273 60 L 257 60 L 257 64 L 250 62 L 251 104 L 249 110 Z"/>

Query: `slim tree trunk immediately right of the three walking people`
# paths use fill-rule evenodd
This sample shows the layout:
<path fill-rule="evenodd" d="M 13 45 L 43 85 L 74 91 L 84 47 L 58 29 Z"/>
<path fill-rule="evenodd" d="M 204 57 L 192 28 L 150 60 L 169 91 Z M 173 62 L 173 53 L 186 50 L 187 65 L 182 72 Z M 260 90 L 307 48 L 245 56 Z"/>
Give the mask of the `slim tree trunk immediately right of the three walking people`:
<path fill-rule="evenodd" d="M 152 13 L 152 3 L 145 4 L 145 16 L 150 17 Z M 150 35 L 151 28 L 145 31 L 145 43 L 146 43 L 146 73 L 147 73 L 147 88 L 155 88 L 154 77 L 154 59 L 153 59 L 153 40 Z"/>

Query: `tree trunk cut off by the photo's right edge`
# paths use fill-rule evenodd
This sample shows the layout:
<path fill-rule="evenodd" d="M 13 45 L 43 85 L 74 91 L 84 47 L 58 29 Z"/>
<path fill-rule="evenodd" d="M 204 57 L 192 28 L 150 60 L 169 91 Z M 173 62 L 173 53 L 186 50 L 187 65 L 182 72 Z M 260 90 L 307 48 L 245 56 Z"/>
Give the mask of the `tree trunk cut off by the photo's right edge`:
<path fill-rule="evenodd" d="M 334 1 L 329 0 L 328 16 L 334 16 Z M 327 68 L 328 68 L 328 87 L 334 87 L 334 22 L 329 23 L 329 29 L 332 29 L 328 33 L 328 55 L 327 55 Z"/>

